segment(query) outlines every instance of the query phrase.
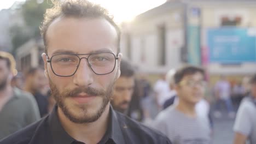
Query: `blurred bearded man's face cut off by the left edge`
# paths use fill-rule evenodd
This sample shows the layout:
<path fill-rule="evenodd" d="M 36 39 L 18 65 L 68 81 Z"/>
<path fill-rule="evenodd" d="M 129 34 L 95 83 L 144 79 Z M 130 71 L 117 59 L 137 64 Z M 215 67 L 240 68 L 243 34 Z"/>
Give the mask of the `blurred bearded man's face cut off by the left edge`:
<path fill-rule="evenodd" d="M 7 67 L 7 61 L 0 59 L 0 91 L 3 91 L 3 89 L 7 86 L 9 74 L 10 70 Z"/>

